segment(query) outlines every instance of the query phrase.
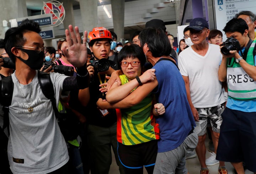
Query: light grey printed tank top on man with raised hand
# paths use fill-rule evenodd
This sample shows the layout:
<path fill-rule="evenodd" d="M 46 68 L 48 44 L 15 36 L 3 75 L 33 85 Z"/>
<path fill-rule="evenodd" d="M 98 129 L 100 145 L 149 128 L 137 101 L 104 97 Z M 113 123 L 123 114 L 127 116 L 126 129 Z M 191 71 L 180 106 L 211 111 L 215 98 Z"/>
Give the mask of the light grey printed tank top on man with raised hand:
<path fill-rule="evenodd" d="M 59 101 L 63 81 L 67 76 L 50 73 L 56 101 Z M 14 74 L 14 93 L 9 107 L 10 137 L 8 158 L 14 174 L 45 174 L 53 172 L 68 162 L 68 150 L 62 136 L 52 104 L 39 85 L 37 73 L 33 78 L 33 112 L 28 112 L 31 102 L 32 82 L 22 85 Z M 23 94 L 26 99 L 23 97 Z M 57 104 L 56 104 L 57 106 Z M 58 108 L 58 106 L 57 106 Z"/>

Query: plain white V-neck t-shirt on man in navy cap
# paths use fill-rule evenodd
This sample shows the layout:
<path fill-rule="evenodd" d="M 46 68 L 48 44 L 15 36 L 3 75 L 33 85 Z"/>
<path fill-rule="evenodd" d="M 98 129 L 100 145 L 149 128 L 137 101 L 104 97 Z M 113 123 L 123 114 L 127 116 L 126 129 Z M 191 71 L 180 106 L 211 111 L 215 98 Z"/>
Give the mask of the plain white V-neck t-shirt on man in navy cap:
<path fill-rule="evenodd" d="M 191 47 L 181 51 L 178 65 L 182 76 L 188 76 L 190 95 L 195 108 L 214 107 L 225 102 L 218 78 L 222 60 L 218 45 L 209 44 L 206 55 L 197 54 Z"/>

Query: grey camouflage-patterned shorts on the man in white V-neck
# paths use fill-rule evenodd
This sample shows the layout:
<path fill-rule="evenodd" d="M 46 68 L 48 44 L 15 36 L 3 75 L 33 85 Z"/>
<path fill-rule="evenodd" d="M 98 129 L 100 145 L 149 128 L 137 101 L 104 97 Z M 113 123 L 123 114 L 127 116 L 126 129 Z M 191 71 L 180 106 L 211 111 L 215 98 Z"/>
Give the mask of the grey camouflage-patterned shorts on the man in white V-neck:
<path fill-rule="evenodd" d="M 225 109 L 225 103 L 210 108 L 196 108 L 199 121 L 196 121 L 195 130 L 198 136 L 206 134 L 207 119 L 210 119 L 210 124 L 214 132 L 220 132 L 220 125 L 222 124 L 222 112 Z"/>

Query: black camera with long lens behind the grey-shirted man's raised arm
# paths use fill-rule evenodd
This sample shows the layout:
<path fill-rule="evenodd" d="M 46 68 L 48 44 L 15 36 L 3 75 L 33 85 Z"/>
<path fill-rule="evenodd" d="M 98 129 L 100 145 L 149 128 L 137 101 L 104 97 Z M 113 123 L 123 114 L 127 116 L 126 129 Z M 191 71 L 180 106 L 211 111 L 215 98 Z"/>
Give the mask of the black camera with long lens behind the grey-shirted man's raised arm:
<path fill-rule="evenodd" d="M 73 66 L 65 66 L 65 65 L 56 65 L 53 62 L 44 62 L 44 68 L 42 71 L 46 70 L 49 66 L 52 66 L 54 72 L 58 72 L 60 74 L 64 74 L 66 76 L 74 75 L 74 67 Z"/>

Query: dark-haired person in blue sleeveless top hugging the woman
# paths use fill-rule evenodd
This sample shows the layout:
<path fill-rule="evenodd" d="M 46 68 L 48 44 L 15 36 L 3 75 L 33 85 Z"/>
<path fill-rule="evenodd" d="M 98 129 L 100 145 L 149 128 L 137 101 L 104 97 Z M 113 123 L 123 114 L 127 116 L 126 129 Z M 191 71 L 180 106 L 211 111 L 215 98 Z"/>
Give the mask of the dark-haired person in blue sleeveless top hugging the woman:
<path fill-rule="evenodd" d="M 139 34 L 139 40 L 143 53 L 155 70 L 154 80 L 143 84 L 137 78 L 137 89 L 112 105 L 137 105 L 153 91 L 156 100 L 166 110 L 165 114 L 156 118 L 160 140 L 154 174 L 188 173 L 185 156 L 196 148 L 198 136 L 194 131 L 196 124 L 187 100 L 185 82 L 175 60 L 169 56 L 171 45 L 162 29 L 146 28 Z M 117 76 L 117 73 L 112 73 L 108 85 L 113 84 Z"/>

